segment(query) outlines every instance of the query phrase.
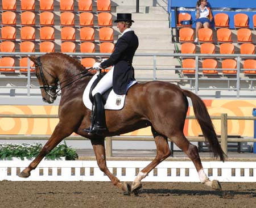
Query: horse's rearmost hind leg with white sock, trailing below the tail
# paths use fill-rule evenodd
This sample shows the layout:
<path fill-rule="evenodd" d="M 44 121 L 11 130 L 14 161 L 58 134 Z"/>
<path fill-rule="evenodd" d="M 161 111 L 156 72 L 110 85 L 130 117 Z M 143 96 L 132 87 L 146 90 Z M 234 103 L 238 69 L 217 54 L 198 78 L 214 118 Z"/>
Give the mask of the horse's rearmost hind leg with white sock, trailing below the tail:
<path fill-rule="evenodd" d="M 221 190 L 220 183 L 217 180 L 210 181 L 205 174 L 197 146 L 192 145 L 188 139 L 185 138 L 183 131 L 173 134 L 170 138 L 179 148 L 181 148 L 181 150 L 185 152 L 185 154 L 188 155 L 189 159 L 191 159 L 195 164 L 201 183 L 212 187 L 214 190 Z"/>

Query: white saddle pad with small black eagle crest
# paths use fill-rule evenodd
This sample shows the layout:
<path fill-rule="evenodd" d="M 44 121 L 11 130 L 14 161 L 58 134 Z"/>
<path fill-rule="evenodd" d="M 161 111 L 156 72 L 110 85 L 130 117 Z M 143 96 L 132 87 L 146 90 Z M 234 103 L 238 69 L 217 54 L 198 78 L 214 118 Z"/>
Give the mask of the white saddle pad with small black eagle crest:
<path fill-rule="evenodd" d="M 97 74 L 95 74 L 92 79 L 90 79 L 89 83 L 87 84 L 84 94 L 82 95 L 82 101 L 84 101 L 84 105 L 86 108 L 92 110 L 92 102 L 89 99 L 89 92 L 90 87 L 92 87 L 92 84 L 94 80 L 97 78 Z M 127 90 L 133 86 L 135 83 L 137 83 L 135 80 L 133 82 L 130 82 L 127 86 Z M 126 91 L 127 91 L 126 90 Z M 125 105 L 125 97 L 126 95 L 117 95 L 115 94 L 114 90 L 110 91 L 110 94 L 108 96 L 108 99 L 106 100 L 106 104 L 104 105 L 104 108 L 107 110 L 121 110 L 123 106 Z"/>

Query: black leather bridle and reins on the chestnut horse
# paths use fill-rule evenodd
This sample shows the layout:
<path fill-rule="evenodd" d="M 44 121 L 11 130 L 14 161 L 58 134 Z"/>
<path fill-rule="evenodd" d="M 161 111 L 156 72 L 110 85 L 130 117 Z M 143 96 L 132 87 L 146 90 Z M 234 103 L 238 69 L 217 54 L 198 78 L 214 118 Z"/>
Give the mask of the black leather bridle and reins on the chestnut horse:
<path fill-rule="evenodd" d="M 52 74 L 50 74 L 46 69 L 43 68 L 42 66 L 42 62 L 40 60 L 40 57 L 37 58 L 37 61 L 35 63 L 35 67 L 39 66 L 39 73 L 40 73 L 40 78 L 43 82 L 43 86 L 39 86 L 40 89 L 44 89 L 44 91 L 46 92 L 47 95 L 49 95 L 50 97 L 52 97 L 52 99 L 56 99 L 56 96 L 57 95 L 60 95 L 58 94 L 58 92 L 60 90 L 62 90 L 64 87 L 67 87 L 69 86 L 70 84 L 72 84 L 73 82 L 76 82 L 77 80 L 85 77 L 87 74 L 90 73 L 90 71 L 92 70 L 92 67 L 90 67 L 89 69 L 85 69 L 84 71 L 82 71 L 81 73 L 79 74 L 75 74 L 73 75 L 72 77 L 69 77 L 68 79 L 62 81 L 62 82 L 59 82 L 59 79 L 57 77 L 54 77 Z M 48 75 L 50 75 L 52 78 L 55 79 L 55 85 L 51 86 L 48 84 L 47 80 L 46 80 L 46 77 L 44 77 L 44 73 L 43 73 L 43 70 L 46 71 L 46 73 Z M 74 78 L 74 77 L 77 77 L 78 75 L 80 74 L 83 74 L 81 77 L 75 79 L 75 80 L 72 80 L 72 82 L 69 82 L 68 84 L 65 84 L 64 86 L 61 87 L 61 84 L 63 84 L 64 82 L 67 82 L 68 80 Z M 58 89 L 58 86 L 60 86 L 60 88 Z M 56 92 L 57 90 L 57 92 Z"/>

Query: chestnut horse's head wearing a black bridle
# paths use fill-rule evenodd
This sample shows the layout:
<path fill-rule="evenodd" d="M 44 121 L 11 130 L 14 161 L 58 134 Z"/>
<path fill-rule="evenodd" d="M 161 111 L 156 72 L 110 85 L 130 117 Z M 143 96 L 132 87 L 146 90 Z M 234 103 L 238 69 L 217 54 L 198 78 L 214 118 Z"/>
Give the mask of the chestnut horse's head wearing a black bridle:
<path fill-rule="evenodd" d="M 57 97 L 56 90 L 58 78 L 52 73 L 52 69 L 49 68 L 47 63 L 42 63 L 43 59 L 41 59 L 41 57 L 31 56 L 28 58 L 35 63 L 35 75 L 40 84 L 43 101 L 53 103 Z"/>

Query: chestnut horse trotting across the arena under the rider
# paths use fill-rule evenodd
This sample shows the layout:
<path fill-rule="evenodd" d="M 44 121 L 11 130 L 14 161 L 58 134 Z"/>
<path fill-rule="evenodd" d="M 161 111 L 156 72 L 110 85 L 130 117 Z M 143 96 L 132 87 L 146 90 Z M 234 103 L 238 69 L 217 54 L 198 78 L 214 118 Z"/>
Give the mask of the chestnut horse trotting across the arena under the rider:
<path fill-rule="evenodd" d="M 147 176 L 160 162 L 170 156 L 171 151 L 167 138 L 181 148 L 195 164 L 201 183 L 220 190 L 217 180 L 210 181 L 204 172 L 199 152 L 195 145 L 189 143 L 183 134 L 184 122 L 190 97 L 197 121 L 209 142 L 210 151 L 214 157 L 224 162 L 222 151 L 212 121 L 205 104 L 199 96 L 191 91 L 182 90 L 175 84 L 152 81 L 137 83 L 127 92 L 125 107 L 121 111 L 105 111 L 107 131 L 104 136 L 89 135 L 82 129 L 90 126 L 90 109 L 82 101 L 82 94 L 92 78 L 92 73 L 84 69 L 78 61 L 62 53 L 47 53 L 41 57 L 29 57 L 35 62 L 35 74 L 39 80 L 43 101 L 53 103 L 57 97 L 57 87 L 61 88 L 59 104 L 59 123 L 51 138 L 42 148 L 40 154 L 20 172 L 20 177 L 30 176 L 40 161 L 64 138 L 73 132 L 89 138 L 96 155 L 98 167 L 103 171 L 112 184 L 126 192 L 135 192 L 142 187 L 141 180 Z M 151 126 L 156 144 L 156 156 L 138 175 L 132 185 L 121 182 L 106 166 L 105 137 L 124 134 L 129 131 Z"/>

